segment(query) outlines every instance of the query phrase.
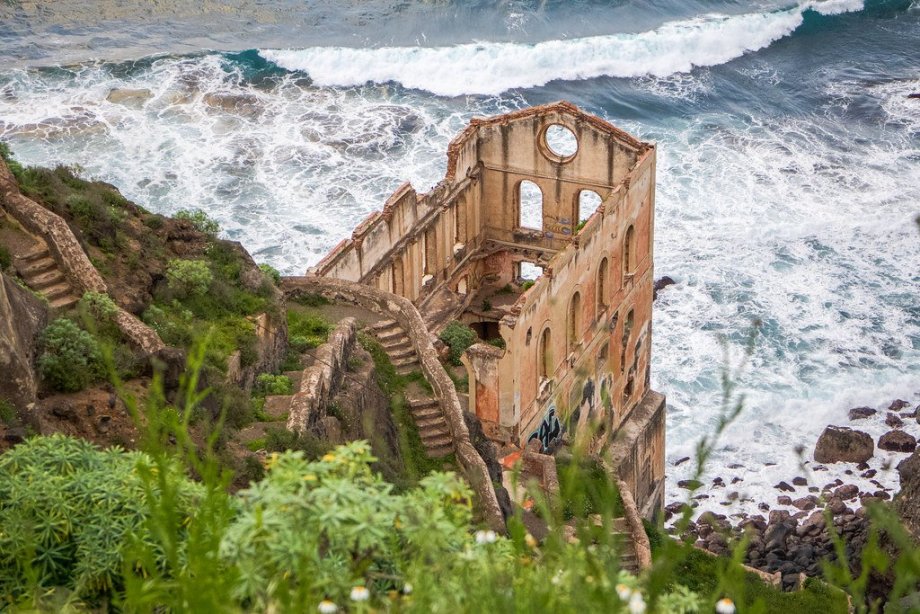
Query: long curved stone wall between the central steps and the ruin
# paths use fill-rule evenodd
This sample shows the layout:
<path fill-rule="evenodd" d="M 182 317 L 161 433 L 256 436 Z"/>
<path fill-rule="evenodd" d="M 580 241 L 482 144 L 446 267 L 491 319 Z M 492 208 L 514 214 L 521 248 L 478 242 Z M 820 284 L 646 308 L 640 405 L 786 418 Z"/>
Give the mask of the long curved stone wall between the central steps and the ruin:
<path fill-rule="evenodd" d="M 453 441 L 454 454 L 473 489 L 476 503 L 489 527 L 504 533 L 504 516 L 489 478 L 489 470 L 470 441 L 457 390 L 438 360 L 438 353 L 431 343 L 428 328 L 415 305 L 408 299 L 371 286 L 327 277 L 284 277 L 281 280 L 281 289 L 286 294 L 302 291 L 357 304 L 391 317 L 403 327 L 418 354 L 422 372 L 438 399 Z"/>

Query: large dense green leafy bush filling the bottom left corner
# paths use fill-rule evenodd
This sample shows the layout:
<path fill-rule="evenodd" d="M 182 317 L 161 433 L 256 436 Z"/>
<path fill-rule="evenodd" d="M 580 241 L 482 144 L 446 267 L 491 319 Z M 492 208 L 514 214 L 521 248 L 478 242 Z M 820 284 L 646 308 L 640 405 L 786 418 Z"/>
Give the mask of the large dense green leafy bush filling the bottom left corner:
<path fill-rule="evenodd" d="M 150 459 L 81 439 L 33 437 L 0 456 L 0 594 L 22 596 L 33 583 L 79 596 L 121 585 L 124 552 L 156 547 L 147 524 L 148 497 L 139 477 Z M 182 517 L 200 487 L 176 468 L 172 504 Z M 156 563 L 155 563 L 156 564 Z M 0 598 L 0 605 L 3 605 Z"/>

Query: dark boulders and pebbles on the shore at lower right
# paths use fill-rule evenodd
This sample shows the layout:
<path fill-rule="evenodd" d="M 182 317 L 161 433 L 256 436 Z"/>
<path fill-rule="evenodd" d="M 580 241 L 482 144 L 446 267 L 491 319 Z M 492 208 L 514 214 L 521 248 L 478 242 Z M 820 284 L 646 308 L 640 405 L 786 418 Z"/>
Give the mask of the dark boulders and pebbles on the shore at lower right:
<path fill-rule="evenodd" d="M 917 440 L 905 427 L 920 425 L 920 405 L 914 407 L 902 399 L 896 399 L 886 410 L 871 407 L 855 407 L 847 412 L 847 418 L 854 427 L 865 421 L 883 421 L 891 430 L 878 439 L 879 450 L 903 454 L 903 459 L 896 465 L 900 478 L 900 491 L 904 493 L 896 506 L 902 518 L 912 515 L 920 491 L 913 482 L 920 479 L 920 452 Z M 877 426 L 877 425 L 876 425 Z M 833 523 L 833 531 L 843 538 L 845 553 L 851 570 L 858 572 L 860 556 L 869 537 L 870 519 L 867 507 L 873 503 L 890 502 L 896 495 L 895 489 L 885 487 L 875 480 L 877 470 L 867 463 L 875 454 L 876 442 L 873 438 L 849 426 L 828 426 L 818 438 L 814 448 L 816 463 L 808 463 L 811 479 L 795 476 L 788 481 L 781 481 L 774 486 L 777 496 L 773 501 L 760 501 L 760 514 L 718 514 L 706 511 L 684 528 L 681 536 L 693 541 L 702 549 L 720 556 L 730 556 L 732 545 L 744 534 L 749 537 L 744 562 L 750 567 L 770 573 L 779 574 L 782 586 L 793 590 L 805 577 L 820 576 L 822 561 L 834 561 L 837 558 L 827 520 Z M 681 459 L 675 464 L 683 462 Z M 861 488 L 854 483 L 837 478 L 820 484 L 819 476 L 827 471 L 827 465 L 847 463 L 852 465 L 844 473 L 852 475 L 863 484 L 870 484 L 875 489 Z M 739 478 L 734 478 L 740 481 Z M 713 480 L 713 485 L 725 486 L 721 477 Z M 689 491 L 689 505 L 695 507 L 699 497 L 693 495 L 702 484 L 693 480 L 680 482 L 682 488 Z M 728 493 L 728 499 L 737 493 Z M 665 508 L 666 522 L 679 518 L 688 503 L 671 503 Z M 786 508 L 786 509 L 783 509 Z M 905 518 L 907 527 L 916 534 L 909 518 Z M 677 532 L 672 526 L 670 531 Z"/>

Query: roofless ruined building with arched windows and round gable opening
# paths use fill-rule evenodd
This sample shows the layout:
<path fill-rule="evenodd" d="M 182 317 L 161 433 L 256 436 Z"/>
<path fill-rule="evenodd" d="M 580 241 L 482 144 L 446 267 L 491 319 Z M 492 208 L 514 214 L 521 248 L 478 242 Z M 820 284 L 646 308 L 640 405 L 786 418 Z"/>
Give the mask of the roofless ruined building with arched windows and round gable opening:
<path fill-rule="evenodd" d="M 567 102 L 528 108 L 474 119 L 443 181 L 400 187 L 310 275 L 405 297 L 429 334 L 469 324 L 482 342 L 463 356 L 463 400 L 488 436 L 609 444 L 651 516 L 665 429 L 649 387 L 654 205 L 654 145 Z"/>

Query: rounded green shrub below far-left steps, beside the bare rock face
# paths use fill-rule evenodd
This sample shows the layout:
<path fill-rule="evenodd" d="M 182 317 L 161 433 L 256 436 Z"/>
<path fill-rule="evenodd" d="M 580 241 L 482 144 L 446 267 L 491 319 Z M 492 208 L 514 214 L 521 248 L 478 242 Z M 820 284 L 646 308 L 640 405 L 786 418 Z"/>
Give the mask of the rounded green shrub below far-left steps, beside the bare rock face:
<path fill-rule="evenodd" d="M 66 318 L 58 318 L 42 333 L 38 369 L 54 390 L 76 392 L 102 374 L 99 343 Z"/>

